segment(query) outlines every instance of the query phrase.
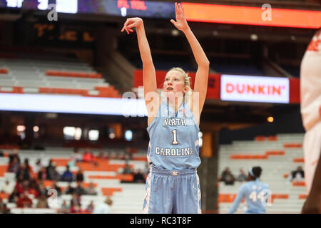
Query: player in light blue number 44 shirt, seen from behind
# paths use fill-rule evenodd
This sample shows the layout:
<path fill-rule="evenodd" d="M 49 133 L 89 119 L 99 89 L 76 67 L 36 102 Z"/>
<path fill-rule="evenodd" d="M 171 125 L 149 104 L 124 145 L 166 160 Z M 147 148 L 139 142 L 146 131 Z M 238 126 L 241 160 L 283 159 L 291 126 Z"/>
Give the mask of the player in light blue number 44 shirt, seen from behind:
<path fill-rule="evenodd" d="M 270 189 L 267 184 L 260 182 L 261 167 L 252 167 L 248 172 L 248 182 L 241 185 L 228 214 L 233 214 L 245 198 L 247 210 L 245 214 L 265 214 L 265 207 L 270 202 Z"/>

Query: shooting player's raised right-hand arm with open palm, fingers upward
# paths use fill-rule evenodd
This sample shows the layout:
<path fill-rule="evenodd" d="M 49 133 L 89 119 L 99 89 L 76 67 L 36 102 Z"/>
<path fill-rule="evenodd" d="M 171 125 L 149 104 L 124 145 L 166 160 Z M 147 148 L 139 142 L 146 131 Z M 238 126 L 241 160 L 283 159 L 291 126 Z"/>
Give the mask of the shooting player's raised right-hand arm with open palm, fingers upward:
<path fill-rule="evenodd" d="M 200 46 L 198 39 L 194 36 L 193 32 L 190 30 L 188 23 L 185 19 L 185 13 L 183 6 L 175 3 L 175 16 L 176 21 L 170 20 L 178 30 L 183 31 L 188 43 L 190 43 L 190 48 L 192 48 L 195 61 L 198 64 L 198 71 L 195 76 L 194 92 L 199 93 L 199 113 L 202 112 L 203 105 L 205 102 L 206 92 L 208 89 L 208 72 L 210 69 L 210 61 L 206 57 L 203 48 Z M 199 117 L 199 116 L 198 116 Z M 198 118 L 195 117 L 195 118 Z"/>

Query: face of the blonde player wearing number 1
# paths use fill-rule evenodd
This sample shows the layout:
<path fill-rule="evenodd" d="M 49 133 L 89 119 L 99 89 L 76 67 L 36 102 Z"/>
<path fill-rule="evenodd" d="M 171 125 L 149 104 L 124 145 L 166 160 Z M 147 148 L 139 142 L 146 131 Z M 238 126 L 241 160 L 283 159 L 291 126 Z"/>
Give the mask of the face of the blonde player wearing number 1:
<path fill-rule="evenodd" d="M 183 95 L 185 93 L 184 78 L 179 71 L 168 71 L 165 76 L 163 90 L 166 96 L 170 94 Z"/>

